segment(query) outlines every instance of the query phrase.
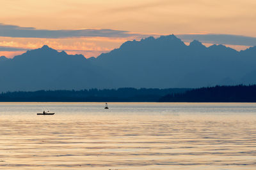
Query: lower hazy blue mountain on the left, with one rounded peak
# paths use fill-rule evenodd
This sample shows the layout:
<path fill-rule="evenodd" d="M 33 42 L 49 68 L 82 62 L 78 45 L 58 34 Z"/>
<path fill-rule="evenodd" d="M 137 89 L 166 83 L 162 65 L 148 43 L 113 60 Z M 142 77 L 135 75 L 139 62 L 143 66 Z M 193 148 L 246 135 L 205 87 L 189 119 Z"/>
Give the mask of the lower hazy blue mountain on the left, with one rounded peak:
<path fill-rule="evenodd" d="M 101 71 L 101 70 L 100 70 Z M 0 62 L 1 91 L 99 88 L 108 79 L 90 66 L 83 55 L 43 46 Z"/>

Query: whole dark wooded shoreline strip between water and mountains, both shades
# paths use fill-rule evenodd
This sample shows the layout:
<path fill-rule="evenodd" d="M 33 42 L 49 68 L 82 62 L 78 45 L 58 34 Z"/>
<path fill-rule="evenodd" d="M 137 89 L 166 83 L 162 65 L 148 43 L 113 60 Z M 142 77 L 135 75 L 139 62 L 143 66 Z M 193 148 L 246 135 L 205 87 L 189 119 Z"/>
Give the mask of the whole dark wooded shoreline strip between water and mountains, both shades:
<path fill-rule="evenodd" d="M 5 92 L 0 102 L 29 103 L 256 103 L 256 85 L 216 86 L 199 89 L 90 89 Z"/>

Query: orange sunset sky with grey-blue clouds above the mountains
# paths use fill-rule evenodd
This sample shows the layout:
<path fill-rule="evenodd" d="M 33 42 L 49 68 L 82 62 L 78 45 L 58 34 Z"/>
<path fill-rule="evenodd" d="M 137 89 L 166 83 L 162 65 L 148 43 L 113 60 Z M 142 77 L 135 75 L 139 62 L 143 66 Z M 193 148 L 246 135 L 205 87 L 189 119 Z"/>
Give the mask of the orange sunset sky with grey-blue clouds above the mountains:
<path fill-rule="evenodd" d="M 256 45 L 255 0 L 0 2 L 0 56 L 48 45 L 97 57 L 128 40 L 168 34 L 237 50 Z"/>

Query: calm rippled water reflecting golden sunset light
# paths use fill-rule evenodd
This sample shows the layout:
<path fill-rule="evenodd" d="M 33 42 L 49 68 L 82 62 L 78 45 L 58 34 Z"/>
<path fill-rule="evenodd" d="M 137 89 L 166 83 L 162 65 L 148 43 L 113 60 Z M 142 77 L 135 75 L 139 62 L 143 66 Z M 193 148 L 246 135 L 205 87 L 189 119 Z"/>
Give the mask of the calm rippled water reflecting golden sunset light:
<path fill-rule="evenodd" d="M 255 127 L 250 103 L 0 103 L 0 169 L 256 169 Z"/>

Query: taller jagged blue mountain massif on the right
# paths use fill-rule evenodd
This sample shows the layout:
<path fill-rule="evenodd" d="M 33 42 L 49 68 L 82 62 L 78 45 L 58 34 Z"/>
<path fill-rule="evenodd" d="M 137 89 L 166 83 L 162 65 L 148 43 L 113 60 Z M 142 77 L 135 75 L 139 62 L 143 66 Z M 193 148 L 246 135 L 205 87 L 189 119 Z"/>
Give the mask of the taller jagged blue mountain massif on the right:
<path fill-rule="evenodd" d="M 255 52 L 256 54 L 256 52 Z M 99 67 L 129 87 L 203 87 L 243 83 L 253 69 L 256 57 L 241 55 L 232 48 L 199 41 L 189 46 L 173 35 L 127 41 L 120 48 L 97 58 Z"/>

